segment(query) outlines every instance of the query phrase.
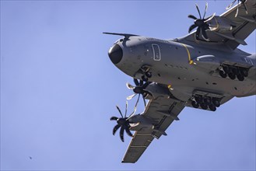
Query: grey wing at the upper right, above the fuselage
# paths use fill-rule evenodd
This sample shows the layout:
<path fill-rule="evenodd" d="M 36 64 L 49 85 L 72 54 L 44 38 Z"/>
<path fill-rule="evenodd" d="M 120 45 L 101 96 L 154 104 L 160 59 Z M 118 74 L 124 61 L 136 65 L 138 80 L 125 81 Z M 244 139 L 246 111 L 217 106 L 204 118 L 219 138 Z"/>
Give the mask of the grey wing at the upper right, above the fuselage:
<path fill-rule="evenodd" d="M 244 8 L 244 5 L 241 3 L 238 5 L 238 15 L 237 13 L 237 5 L 234 5 L 233 8 L 227 10 L 222 15 L 220 15 L 220 19 L 224 19 L 224 21 L 229 21 L 234 25 L 232 30 L 226 31 L 212 31 L 207 30 L 206 33 L 209 37 L 209 42 L 226 44 L 228 47 L 232 49 L 237 48 L 238 45 L 243 44 L 247 45 L 244 41 L 252 32 L 254 32 L 256 28 L 256 0 L 247 0 L 245 2 L 247 12 Z M 215 16 L 212 21 L 217 20 L 218 16 Z M 222 20 L 219 20 L 218 27 L 220 28 Z M 230 26 L 230 25 L 227 25 Z M 193 33 L 188 34 L 187 37 L 184 37 L 185 40 L 195 41 L 195 31 Z M 202 35 L 199 37 L 199 43 L 205 42 L 206 40 L 202 39 Z"/>

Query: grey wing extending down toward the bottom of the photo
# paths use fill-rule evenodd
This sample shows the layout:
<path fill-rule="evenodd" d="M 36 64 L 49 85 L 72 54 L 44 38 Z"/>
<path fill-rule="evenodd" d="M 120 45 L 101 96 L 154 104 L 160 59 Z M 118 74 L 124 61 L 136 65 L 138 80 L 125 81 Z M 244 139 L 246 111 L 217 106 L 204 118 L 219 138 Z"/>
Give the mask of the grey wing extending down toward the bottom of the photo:
<path fill-rule="evenodd" d="M 137 162 L 145 152 L 154 138 L 160 138 L 174 120 L 178 120 L 177 115 L 184 109 L 184 103 L 171 99 L 168 96 L 158 96 L 150 99 L 146 110 L 142 113 L 143 117 L 154 121 L 154 128 L 148 127 L 135 134 L 128 146 L 122 162 Z"/>

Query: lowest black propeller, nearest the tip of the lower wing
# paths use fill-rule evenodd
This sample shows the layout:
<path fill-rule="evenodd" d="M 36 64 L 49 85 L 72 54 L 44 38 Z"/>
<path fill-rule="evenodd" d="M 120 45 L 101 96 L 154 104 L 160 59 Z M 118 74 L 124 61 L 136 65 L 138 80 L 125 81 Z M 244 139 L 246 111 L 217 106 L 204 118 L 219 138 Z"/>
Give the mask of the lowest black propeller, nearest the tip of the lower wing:
<path fill-rule="evenodd" d="M 117 110 L 118 112 L 120 113 L 121 117 L 110 117 L 110 120 L 116 120 L 117 121 L 117 125 L 114 126 L 114 129 L 113 129 L 113 135 L 117 132 L 117 130 L 121 127 L 120 129 L 120 138 L 121 138 L 121 141 L 124 142 L 124 131 L 126 131 L 126 133 L 132 137 L 132 133 L 131 131 L 129 130 L 129 128 L 131 127 L 130 126 L 130 122 L 129 122 L 129 119 L 132 117 L 132 115 L 135 113 L 136 111 L 136 107 L 135 109 L 133 110 L 133 112 L 130 114 L 129 117 L 126 116 L 127 114 L 127 107 L 128 107 L 128 102 L 126 102 L 126 105 L 125 105 L 125 113 L 124 115 L 121 113 L 121 110 L 118 106 L 117 107 Z"/>

